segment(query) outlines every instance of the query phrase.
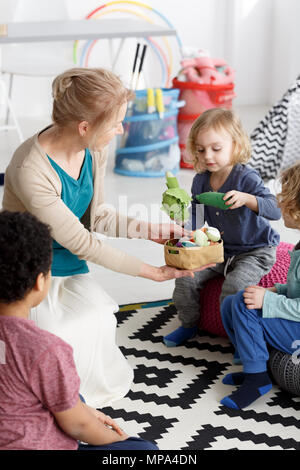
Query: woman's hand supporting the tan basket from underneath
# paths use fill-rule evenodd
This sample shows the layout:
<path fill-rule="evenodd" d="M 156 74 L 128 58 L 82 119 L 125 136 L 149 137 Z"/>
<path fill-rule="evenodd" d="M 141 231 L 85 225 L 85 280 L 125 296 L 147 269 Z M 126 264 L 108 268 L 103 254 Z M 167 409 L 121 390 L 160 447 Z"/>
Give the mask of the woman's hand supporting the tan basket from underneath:
<path fill-rule="evenodd" d="M 172 266 L 150 266 L 149 264 L 142 264 L 140 277 L 152 279 L 152 281 L 163 282 L 171 279 L 178 279 L 179 277 L 195 277 L 195 272 L 203 271 L 207 268 L 212 268 L 215 264 L 206 264 L 197 269 L 177 269 Z"/>

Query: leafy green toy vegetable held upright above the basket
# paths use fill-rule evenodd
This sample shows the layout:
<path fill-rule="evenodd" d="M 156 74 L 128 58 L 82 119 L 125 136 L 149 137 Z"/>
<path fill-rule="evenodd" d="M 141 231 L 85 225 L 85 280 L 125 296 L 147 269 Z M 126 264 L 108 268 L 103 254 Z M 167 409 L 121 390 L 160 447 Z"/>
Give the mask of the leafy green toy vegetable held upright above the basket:
<path fill-rule="evenodd" d="M 189 219 L 187 207 L 191 197 L 184 189 L 179 187 L 177 178 L 171 171 L 167 171 L 166 179 L 168 189 L 163 193 L 161 209 L 172 220 L 178 223 L 186 222 Z"/>

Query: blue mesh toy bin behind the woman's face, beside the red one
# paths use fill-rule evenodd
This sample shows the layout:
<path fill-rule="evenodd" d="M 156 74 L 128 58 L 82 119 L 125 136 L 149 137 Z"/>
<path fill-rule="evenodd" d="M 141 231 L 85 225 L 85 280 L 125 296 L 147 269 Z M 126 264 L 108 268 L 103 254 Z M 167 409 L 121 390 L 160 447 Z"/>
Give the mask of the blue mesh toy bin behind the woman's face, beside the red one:
<path fill-rule="evenodd" d="M 179 90 L 162 89 L 164 111 L 148 112 L 147 90 L 136 91 L 118 137 L 114 171 L 126 176 L 164 176 L 179 170 Z"/>

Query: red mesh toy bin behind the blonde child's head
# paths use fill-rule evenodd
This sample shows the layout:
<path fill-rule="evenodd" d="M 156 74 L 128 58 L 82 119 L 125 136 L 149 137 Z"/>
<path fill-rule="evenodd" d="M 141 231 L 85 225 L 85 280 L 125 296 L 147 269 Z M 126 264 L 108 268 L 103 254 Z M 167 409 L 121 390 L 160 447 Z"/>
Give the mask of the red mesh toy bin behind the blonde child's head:
<path fill-rule="evenodd" d="M 180 90 L 180 99 L 185 106 L 178 115 L 178 135 L 181 153 L 181 168 L 193 168 L 191 157 L 186 151 L 186 141 L 194 120 L 204 111 L 211 108 L 232 107 L 235 98 L 234 84 L 228 85 L 200 85 L 194 82 L 181 82 L 173 79 L 173 86 Z"/>

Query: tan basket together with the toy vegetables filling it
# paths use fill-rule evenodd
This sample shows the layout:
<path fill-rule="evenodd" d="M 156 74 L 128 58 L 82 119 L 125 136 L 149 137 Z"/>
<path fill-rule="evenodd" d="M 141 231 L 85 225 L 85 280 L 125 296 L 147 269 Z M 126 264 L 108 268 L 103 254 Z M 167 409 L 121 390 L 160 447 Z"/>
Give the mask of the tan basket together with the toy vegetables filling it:
<path fill-rule="evenodd" d="M 168 240 L 164 246 L 165 261 L 180 269 L 196 269 L 209 263 L 224 261 L 224 247 L 219 230 L 203 227 L 191 232 L 191 238 Z"/>

